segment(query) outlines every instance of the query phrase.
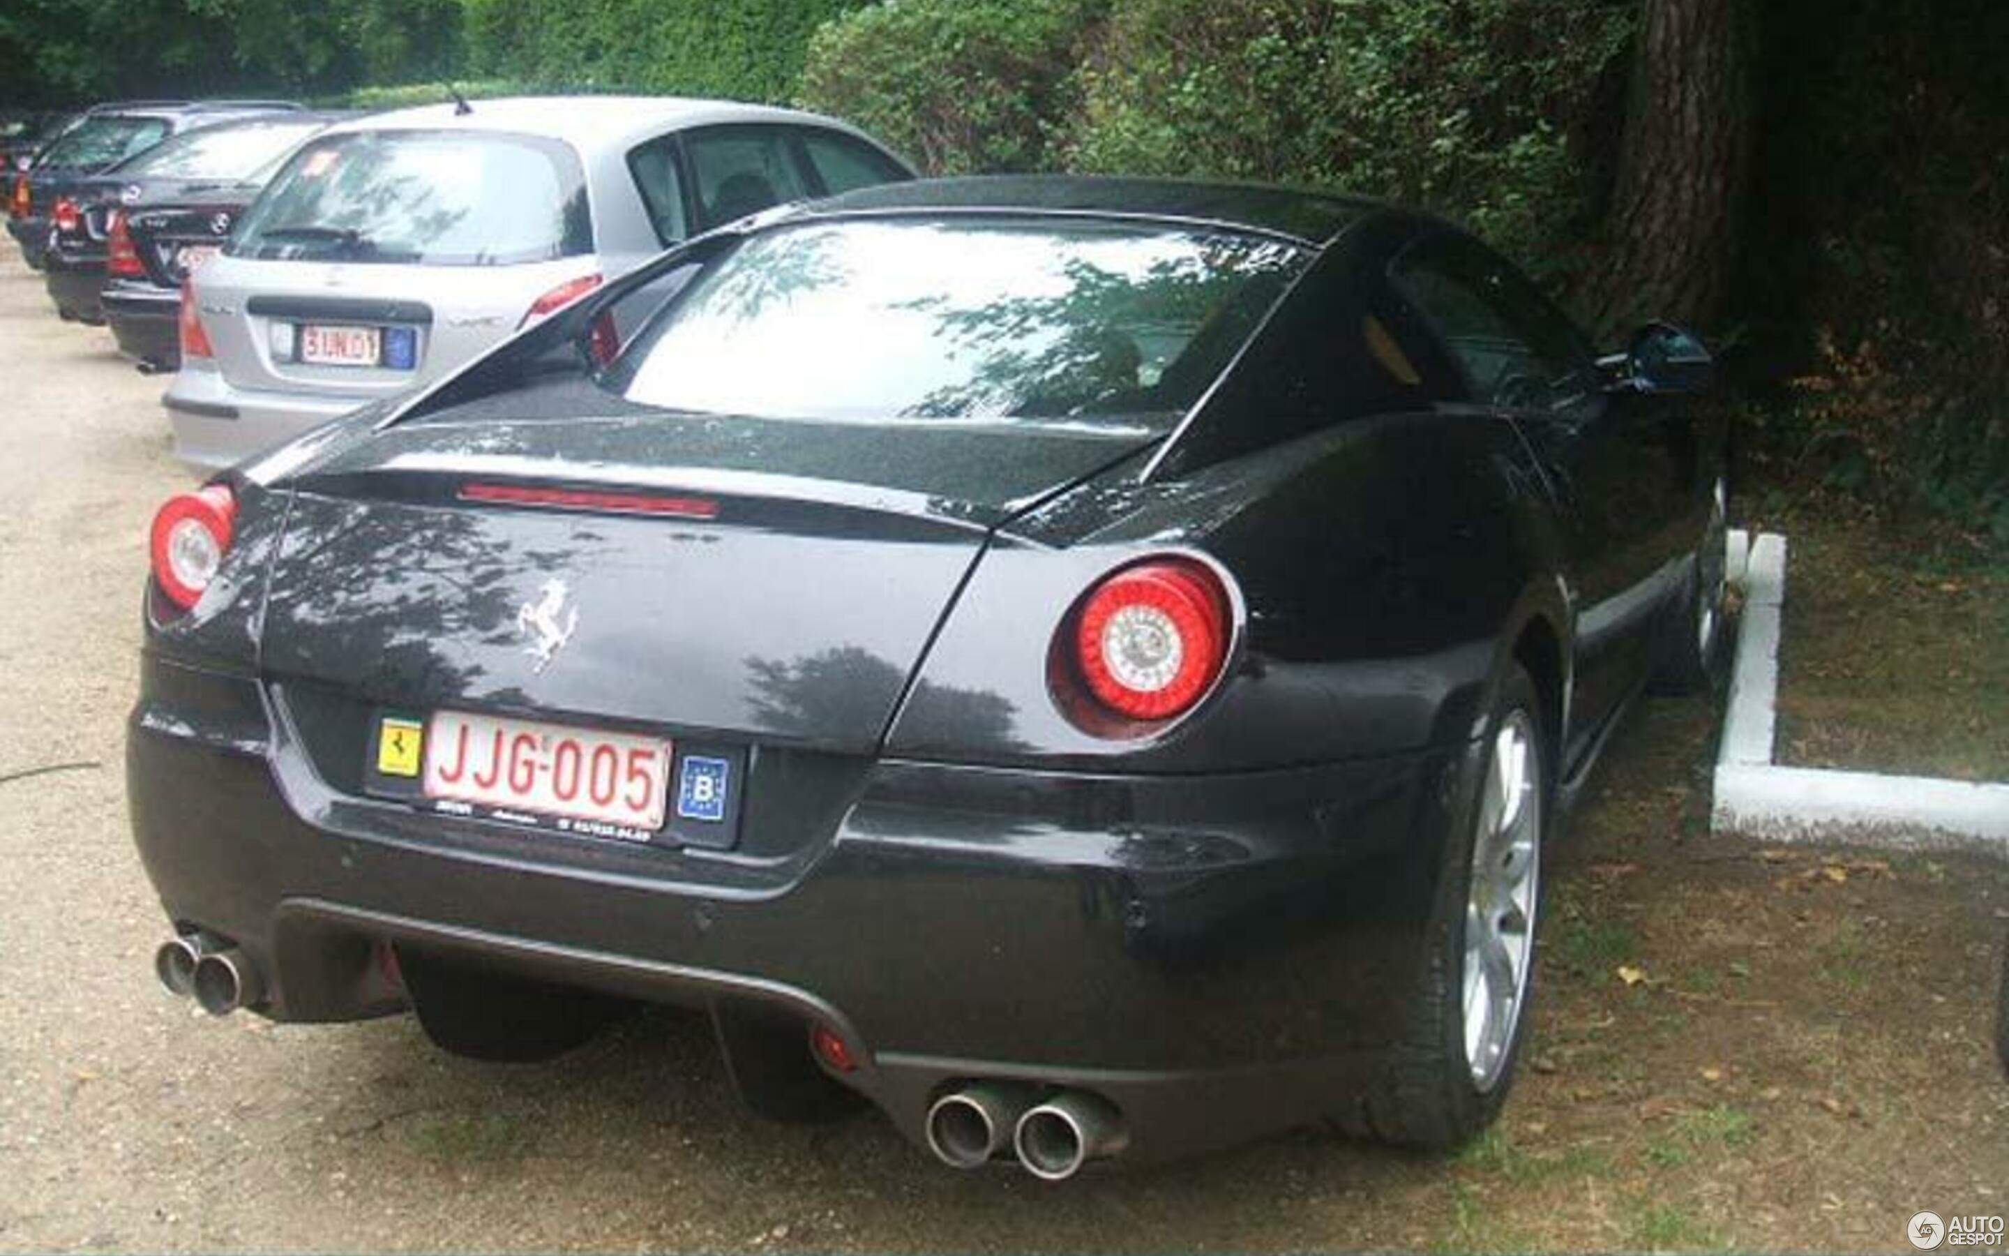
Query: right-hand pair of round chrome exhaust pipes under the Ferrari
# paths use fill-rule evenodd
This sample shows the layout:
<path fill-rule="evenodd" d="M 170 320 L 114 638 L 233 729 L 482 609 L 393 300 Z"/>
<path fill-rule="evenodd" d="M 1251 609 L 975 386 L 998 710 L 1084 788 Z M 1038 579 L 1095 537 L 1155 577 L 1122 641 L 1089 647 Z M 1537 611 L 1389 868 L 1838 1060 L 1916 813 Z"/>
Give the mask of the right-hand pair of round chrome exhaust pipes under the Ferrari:
<path fill-rule="evenodd" d="M 988 1164 L 1011 1149 L 1025 1172 L 1065 1182 L 1091 1160 L 1129 1145 L 1123 1115 L 1089 1091 L 1061 1091 L 1035 1101 L 1039 1089 L 1011 1081 L 978 1081 L 952 1089 L 928 1107 L 928 1147 L 958 1170 Z"/>

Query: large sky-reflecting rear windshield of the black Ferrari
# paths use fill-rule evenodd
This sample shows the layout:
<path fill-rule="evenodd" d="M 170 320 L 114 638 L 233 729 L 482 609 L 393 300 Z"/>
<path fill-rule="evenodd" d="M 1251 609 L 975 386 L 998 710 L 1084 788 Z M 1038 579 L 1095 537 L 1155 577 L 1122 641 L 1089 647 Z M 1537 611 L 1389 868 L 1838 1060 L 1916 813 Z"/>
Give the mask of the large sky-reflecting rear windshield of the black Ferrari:
<path fill-rule="evenodd" d="M 697 275 L 603 382 L 647 406 L 761 418 L 1165 418 L 1304 261 L 1290 243 L 1183 227 L 806 223 Z"/>

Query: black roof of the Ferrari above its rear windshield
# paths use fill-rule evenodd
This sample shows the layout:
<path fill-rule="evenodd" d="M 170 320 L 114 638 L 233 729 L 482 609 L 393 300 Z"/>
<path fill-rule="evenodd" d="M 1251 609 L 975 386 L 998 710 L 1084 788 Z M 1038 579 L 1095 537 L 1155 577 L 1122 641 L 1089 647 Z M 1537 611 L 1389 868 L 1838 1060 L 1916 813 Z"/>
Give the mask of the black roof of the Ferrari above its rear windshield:
<path fill-rule="evenodd" d="M 1264 183 L 1111 179 L 1095 175 L 982 175 L 880 183 L 802 207 L 800 217 L 842 213 L 1004 211 L 1203 221 L 1326 243 L 1380 201 Z"/>

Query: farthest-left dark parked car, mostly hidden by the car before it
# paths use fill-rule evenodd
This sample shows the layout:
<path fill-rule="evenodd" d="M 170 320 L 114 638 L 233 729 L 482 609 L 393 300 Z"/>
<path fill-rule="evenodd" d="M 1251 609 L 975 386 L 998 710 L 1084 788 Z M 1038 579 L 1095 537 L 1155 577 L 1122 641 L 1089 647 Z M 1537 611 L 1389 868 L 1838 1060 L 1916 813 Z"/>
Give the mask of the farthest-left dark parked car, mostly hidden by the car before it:
<path fill-rule="evenodd" d="M 48 251 L 48 229 L 56 205 L 70 195 L 76 181 L 106 171 L 129 157 L 139 157 L 161 141 L 187 131 L 255 113 L 295 111 L 287 100 L 129 100 L 96 104 L 80 123 L 42 149 L 34 163 L 14 175 L 14 195 L 8 201 L 8 235 L 20 245 L 22 259 L 42 269 Z"/>

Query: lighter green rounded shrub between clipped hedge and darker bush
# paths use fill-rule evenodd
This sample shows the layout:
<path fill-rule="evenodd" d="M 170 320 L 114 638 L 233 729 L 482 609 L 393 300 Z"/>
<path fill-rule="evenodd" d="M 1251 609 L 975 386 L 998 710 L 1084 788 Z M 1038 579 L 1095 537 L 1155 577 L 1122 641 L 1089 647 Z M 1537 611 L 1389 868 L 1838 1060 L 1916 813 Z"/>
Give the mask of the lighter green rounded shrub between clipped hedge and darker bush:
<path fill-rule="evenodd" d="M 808 109 L 842 115 L 930 175 L 1033 171 L 1075 111 L 1077 42 L 1107 0 L 888 0 L 816 32 Z"/>

